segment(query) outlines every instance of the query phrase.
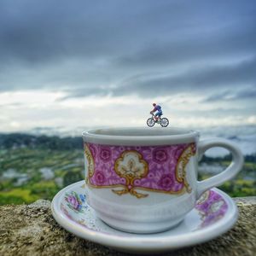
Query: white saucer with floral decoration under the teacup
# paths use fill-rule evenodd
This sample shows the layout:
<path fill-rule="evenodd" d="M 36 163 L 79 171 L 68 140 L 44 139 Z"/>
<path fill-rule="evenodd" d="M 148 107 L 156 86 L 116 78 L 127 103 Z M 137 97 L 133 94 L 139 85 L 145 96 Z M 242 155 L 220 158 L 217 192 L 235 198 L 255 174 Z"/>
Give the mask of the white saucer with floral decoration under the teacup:
<path fill-rule="evenodd" d="M 52 201 L 55 220 L 66 230 L 89 241 L 130 253 L 161 253 L 209 241 L 236 223 L 236 204 L 219 189 L 201 195 L 183 222 L 162 233 L 137 235 L 114 230 L 87 205 L 84 181 L 62 189 Z"/>

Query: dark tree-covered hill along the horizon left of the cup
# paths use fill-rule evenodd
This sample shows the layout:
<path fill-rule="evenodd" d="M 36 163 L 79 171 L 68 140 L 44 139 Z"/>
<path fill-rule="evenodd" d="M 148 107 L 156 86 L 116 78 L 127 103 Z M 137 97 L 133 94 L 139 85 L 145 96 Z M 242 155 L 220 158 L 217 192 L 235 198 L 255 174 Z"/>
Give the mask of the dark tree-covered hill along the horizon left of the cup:
<path fill-rule="evenodd" d="M 33 136 L 24 133 L 0 133 L 0 148 L 49 148 L 49 149 L 74 149 L 83 148 L 82 137 L 48 137 Z"/>

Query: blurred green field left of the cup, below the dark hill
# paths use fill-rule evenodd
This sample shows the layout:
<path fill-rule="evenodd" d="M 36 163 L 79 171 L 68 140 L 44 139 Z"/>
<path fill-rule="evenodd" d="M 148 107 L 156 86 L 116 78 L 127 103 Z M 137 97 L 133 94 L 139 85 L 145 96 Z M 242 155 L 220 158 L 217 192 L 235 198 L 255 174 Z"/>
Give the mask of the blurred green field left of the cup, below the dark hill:
<path fill-rule="evenodd" d="M 40 170 L 48 170 L 44 177 Z M 83 179 L 83 150 L 17 148 L 0 151 L 0 204 L 49 199 Z"/>

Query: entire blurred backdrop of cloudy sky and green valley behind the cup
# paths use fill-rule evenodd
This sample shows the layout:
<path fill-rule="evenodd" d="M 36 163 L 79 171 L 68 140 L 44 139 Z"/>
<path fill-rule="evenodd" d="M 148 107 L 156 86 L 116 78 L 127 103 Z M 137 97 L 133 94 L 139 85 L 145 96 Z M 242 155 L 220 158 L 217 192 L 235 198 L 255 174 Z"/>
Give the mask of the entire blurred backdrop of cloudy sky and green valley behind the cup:
<path fill-rule="evenodd" d="M 255 31 L 253 0 L 0 1 L 0 204 L 83 179 L 81 132 L 146 126 L 154 102 L 236 143 L 245 165 L 220 188 L 256 195 Z M 200 178 L 229 162 L 207 151 Z"/>

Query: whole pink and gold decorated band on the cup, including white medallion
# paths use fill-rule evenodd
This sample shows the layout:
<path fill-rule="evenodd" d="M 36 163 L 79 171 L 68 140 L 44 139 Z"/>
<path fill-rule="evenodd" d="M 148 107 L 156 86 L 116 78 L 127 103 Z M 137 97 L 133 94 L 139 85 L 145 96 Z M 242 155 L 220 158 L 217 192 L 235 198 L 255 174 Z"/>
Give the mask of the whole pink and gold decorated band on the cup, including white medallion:
<path fill-rule="evenodd" d="M 171 195 L 190 193 L 186 166 L 195 151 L 195 143 L 165 148 L 85 143 L 85 182 L 92 188 L 112 188 L 117 195 L 129 193 L 137 198 L 148 196 L 137 189 Z"/>

